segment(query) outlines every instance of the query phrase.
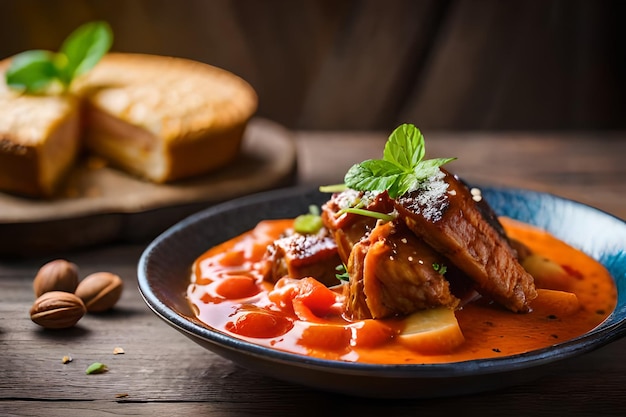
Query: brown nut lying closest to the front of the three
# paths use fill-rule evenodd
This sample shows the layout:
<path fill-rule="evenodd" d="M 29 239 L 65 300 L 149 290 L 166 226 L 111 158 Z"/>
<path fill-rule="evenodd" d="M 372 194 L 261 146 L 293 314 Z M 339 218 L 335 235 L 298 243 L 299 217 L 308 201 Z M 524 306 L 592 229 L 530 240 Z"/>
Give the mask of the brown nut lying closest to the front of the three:
<path fill-rule="evenodd" d="M 49 291 L 35 300 L 30 319 L 47 329 L 65 329 L 74 326 L 87 312 L 83 301 L 65 291 Z"/>

